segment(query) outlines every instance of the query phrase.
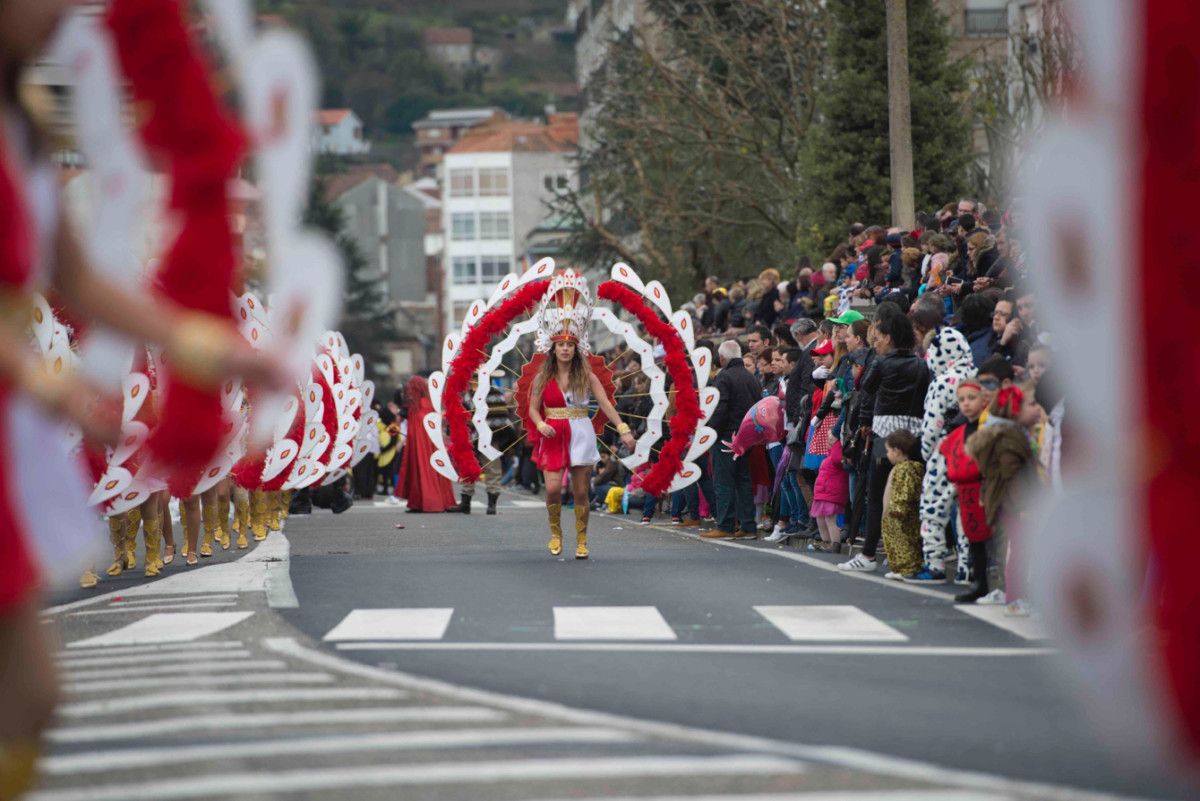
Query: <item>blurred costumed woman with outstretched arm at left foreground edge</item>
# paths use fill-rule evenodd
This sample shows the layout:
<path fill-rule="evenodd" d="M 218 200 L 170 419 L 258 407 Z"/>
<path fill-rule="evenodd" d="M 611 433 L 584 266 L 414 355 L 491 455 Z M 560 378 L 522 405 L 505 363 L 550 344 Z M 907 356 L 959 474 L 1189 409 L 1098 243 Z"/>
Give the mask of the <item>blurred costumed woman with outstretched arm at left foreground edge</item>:
<path fill-rule="evenodd" d="M 56 31 L 70 0 L 0 5 L 0 799 L 32 782 L 41 734 L 58 694 L 52 634 L 40 620 L 42 570 L 68 561 L 72 536 L 92 525 L 86 490 L 70 481 L 61 423 L 112 442 L 116 414 L 70 371 L 30 345 L 32 294 L 49 288 L 80 319 L 161 345 L 180 377 L 212 386 L 227 373 L 275 379 L 232 326 L 170 301 L 151 301 L 96 272 L 62 213 L 58 175 L 20 94 L 25 66 Z M 223 177 L 222 177 L 223 180 Z M 58 471 L 58 475 L 47 475 Z M 79 472 L 79 470 L 74 470 Z M 78 484 L 78 486 L 74 486 Z M 78 554 L 74 554 L 78 555 Z"/>

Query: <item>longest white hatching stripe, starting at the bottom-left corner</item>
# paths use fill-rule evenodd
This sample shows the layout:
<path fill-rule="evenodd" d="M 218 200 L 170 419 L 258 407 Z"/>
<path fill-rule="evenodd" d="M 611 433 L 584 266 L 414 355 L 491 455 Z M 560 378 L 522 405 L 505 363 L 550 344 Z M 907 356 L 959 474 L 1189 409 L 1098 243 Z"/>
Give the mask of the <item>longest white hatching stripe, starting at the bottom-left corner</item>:
<path fill-rule="evenodd" d="M 356 765 L 319 770 L 215 773 L 164 782 L 158 777 L 138 784 L 89 784 L 68 790 L 47 790 L 30 801 L 172 801 L 224 795 L 276 795 L 343 790 L 352 787 L 427 787 L 432 784 L 486 784 L 491 782 L 571 782 L 594 778 L 655 776 L 774 776 L 796 775 L 804 765 L 779 757 L 610 757 L 523 760 L 473 760 L 425 765 Z"/>

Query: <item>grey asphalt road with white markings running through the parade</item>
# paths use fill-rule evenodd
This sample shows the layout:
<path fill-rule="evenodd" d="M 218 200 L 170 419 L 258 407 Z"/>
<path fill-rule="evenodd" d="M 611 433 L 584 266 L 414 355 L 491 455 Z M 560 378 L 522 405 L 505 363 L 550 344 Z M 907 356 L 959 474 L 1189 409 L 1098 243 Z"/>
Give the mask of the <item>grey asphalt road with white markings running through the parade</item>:
<path fill-rule="evenodd" d="M 538 499 L 481 511 L 318 510 L 55 598 L 35 799 L 1194 797 L 953 588 L 600 514 L 590 560 L 554 559 Z"/>

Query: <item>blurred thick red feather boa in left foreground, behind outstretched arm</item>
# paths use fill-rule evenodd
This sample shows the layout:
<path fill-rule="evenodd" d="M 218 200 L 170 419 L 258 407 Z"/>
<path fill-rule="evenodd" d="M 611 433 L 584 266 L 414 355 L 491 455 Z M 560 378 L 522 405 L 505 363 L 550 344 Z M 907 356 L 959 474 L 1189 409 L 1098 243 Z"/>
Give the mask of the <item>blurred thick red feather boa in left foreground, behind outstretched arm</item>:
<path fill-rule="evenodd" d="M 142 141 L 169 169 L 170 207 L 180 218 L 156 277 L 158 290 L 182 308 L 232 320 L 236 265 L 227 181 L 246 138 L 212 89 L 180 0 L 114 0 L 107 24 L 121 72 L 145 110 Z M 221 395 L 220 387 L 192 386 L 169 362 L 166 367 L 162 423 L 149 450 L 173 465 L 168 482 L 179 489 L 221 446 Z"/>

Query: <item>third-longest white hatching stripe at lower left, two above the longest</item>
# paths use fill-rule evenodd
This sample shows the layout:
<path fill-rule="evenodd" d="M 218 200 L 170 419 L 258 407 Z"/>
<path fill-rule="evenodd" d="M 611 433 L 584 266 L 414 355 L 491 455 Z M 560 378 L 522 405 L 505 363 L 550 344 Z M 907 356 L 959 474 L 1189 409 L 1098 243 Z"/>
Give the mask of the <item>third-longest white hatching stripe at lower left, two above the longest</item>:
<path fill-rule="evenodd" d="M 384 709 L 330 709 L 300 712 L 222 712 L 187 715 L 134 723 L 106 723 L 50 729 L 54 742 L 101 742 L 138 740 L 185 731 L 224 731 L 253 728 L 298 725 L 374 724 L 374 723 L 493 723 L 509 718 L 506 712 L 484 706 L 395 706 Z"/>

